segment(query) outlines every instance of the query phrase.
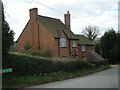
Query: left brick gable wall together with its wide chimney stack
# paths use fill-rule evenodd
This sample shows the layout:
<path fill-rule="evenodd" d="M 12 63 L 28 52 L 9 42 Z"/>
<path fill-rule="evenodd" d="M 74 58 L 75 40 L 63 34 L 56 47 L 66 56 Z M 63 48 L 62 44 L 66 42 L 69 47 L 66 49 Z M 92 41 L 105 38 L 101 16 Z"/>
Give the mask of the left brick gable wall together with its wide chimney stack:
<path fill-rule="evenodd" d="M 38 23 L 36 8 L 30 10 L 30 20 L 18 39 L 18 52 L 22 52 L 24 50 L 24 46 L 27 41 L 30 42 L 33 50 L 38 49 Z"/>

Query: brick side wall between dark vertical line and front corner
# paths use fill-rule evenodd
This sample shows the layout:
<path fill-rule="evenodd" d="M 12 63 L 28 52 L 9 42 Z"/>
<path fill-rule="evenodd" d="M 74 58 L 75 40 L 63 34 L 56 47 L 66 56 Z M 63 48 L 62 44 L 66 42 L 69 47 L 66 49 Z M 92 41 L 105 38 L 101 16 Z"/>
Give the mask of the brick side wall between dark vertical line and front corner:
<path fill-rule="evenodd" d="M 55 56 L 55 40 L 54 36 L 45 28 L 40 21 L 39 22 L 39 41 L 40 49 L 52 52 L 52 56 Z"/>

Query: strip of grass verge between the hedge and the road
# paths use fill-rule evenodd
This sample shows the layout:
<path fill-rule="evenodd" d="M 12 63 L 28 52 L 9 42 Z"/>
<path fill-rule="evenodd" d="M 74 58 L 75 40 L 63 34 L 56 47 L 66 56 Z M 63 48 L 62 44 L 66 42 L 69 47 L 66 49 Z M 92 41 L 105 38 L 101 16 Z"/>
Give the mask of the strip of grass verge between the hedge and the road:
<path fill-rule="evenodd" d="M 111 68 L 110 65 L 104 65 L 101 67 L 98 67 L 96 69 L 83 69 L 71 73 L 67 73 L 64 71 L 39 75 L 39 76 L 26 76 L 26 77 L 13 77 L 9 80 L 6 80 L 3 83 L 3 88 L 23 88 L 27 86 L 33 86 L 33 85 L 40 85 L 44 83 L 54 82 L 54 81 L 60 81 L 75 77 L 80 77 L 84 75 L 88 75 L 91 73 L 99 72 L 105 69 Z"/>

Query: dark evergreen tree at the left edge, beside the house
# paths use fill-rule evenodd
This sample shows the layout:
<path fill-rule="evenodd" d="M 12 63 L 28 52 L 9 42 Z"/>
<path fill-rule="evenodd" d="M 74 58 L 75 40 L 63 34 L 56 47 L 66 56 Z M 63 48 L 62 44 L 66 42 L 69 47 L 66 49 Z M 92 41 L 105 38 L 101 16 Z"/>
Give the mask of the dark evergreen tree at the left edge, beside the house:
<path fill-rule="evenodd" d="M 14 32 L 13 30 L 10 30 L 9 24 L 5 20 L 4 7 L 2 4 L 2 55 L 3 55 L 3 58 L 8 53 L 11 45 L 14 44 L 13 36 L 14 36 Z"/>

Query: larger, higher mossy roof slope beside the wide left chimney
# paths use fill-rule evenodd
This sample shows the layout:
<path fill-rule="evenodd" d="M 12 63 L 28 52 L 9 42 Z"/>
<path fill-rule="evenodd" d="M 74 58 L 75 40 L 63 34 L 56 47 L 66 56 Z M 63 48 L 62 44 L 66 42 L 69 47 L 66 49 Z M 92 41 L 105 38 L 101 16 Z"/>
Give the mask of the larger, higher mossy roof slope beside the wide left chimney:
<path fill-rule="evenodd" d="M 63 24 L 60 19 L 38 15 L 40 22 L 51 32 L 55 38 L 59 38 L 59 33 L 63 31 L 69 39 L 77 39 L 74 33 Z"/>

